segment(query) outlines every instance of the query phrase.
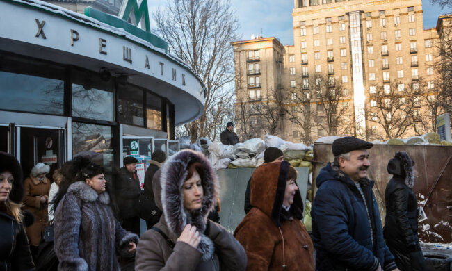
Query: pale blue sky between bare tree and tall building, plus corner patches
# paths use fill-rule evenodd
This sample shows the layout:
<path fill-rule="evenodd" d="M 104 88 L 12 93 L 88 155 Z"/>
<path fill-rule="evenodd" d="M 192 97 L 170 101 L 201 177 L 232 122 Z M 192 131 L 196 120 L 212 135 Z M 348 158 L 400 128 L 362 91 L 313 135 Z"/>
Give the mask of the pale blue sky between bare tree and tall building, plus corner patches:
<path fill-rule="evenodd" d="M 167 0 L 148 0 L 151 14 L 159 6 L 164 6 Z M 230 0 L 231 8 L 236 11 L 239 21 L 241 40 L 250 40 L 251 36 L 276 37 L 284 45 L 293 45 L 292 10 L 293 0 Z M 422 0 L 423 27 L 428 29 L 436 26 L 439 15 L 451 13 L 451 10 L 441 8 Z M 153 22 L 152 22 L 153 24 Z"/>

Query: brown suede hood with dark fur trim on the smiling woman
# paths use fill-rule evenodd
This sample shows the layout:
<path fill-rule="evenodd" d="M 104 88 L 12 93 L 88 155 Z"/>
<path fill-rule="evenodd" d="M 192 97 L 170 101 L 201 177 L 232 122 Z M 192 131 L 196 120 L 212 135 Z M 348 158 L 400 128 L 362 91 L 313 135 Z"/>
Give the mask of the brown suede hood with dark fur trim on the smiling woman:
<path fill-rule="evenodd" d="M 251 205 L 268 215 L 276 227 L 281 226 L 282 202 L 286 192 L 289 166 L 287 161 L 265 163 L 257 167 L 251 176 Z M 302 215 L 300 190 L 295 192 L 291 209 Z"/>

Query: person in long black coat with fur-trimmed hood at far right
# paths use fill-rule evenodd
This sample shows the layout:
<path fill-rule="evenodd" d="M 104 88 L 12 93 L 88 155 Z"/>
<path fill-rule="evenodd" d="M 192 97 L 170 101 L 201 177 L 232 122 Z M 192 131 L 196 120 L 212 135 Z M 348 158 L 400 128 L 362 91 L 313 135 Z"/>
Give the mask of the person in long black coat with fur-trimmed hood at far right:
<path fill-rule="evenodd" d="M 401 271 L 426 270 L 417 237 L 417 199 L 414 186 L 414 162 L 405 151 L 389 160 L 387 172 L 393 174 L 386 186 L 385 235 L 387 246 Z"/>

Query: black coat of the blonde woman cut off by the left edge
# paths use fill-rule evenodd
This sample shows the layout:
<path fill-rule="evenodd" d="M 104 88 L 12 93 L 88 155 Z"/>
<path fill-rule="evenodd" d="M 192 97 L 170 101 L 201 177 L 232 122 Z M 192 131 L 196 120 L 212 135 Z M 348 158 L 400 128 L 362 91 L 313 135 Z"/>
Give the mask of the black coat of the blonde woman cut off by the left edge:
<path fill-rule="evenodd" d="M 35 270 L 24 226 L 0 211 L 0 271 Z"/>

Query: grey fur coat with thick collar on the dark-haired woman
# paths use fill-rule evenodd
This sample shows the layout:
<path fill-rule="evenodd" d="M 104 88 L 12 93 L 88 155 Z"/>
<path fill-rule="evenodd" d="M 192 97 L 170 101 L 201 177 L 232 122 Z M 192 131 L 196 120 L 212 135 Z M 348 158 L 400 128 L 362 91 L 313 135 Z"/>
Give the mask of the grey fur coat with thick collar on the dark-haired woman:
<path fill-rule="evenodd" d="M 97 194 L 83 181 L 70 185 L 54 216 L 58 270 L 120 270 L 116 250 L 126 255 L 129 242 L 138 243 L 115 219 L 108 192 Z"/>

